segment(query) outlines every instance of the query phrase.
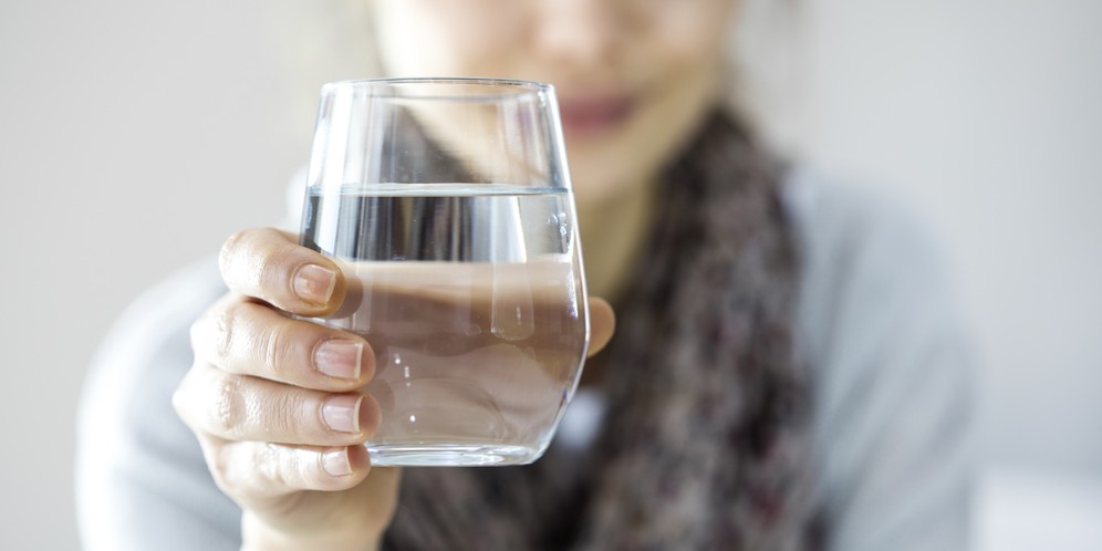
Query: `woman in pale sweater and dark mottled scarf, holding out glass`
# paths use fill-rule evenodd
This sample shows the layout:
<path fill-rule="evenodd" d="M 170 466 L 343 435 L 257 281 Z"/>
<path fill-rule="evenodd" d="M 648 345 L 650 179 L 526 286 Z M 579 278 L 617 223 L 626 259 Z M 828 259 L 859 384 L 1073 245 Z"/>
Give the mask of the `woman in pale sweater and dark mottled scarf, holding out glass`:
<path fill-rule="evenodd" d="M 374 2 L 387 74 L 555 84 L 590 290 L 620 319 L 584 406 L 530 467 L 371 469 L 370 345 L 283 313 L 335 310 L 340 271 L 243 231 L 100 356 L 87 548 L 964 549 L 967 357 L 936 262 L 722 107 L 737 8 Z"/>

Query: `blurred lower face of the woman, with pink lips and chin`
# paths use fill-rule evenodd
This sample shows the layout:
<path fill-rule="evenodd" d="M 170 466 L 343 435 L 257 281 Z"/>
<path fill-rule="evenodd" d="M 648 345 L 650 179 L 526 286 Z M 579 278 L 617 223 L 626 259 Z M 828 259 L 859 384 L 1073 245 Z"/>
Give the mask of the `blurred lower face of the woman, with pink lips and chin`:
<path fill-rule="evenodd" d="M 393 76 L 554 84 L 581 207 L 637 191 L 715 102 L 734 0 L 375 0 Z"/>

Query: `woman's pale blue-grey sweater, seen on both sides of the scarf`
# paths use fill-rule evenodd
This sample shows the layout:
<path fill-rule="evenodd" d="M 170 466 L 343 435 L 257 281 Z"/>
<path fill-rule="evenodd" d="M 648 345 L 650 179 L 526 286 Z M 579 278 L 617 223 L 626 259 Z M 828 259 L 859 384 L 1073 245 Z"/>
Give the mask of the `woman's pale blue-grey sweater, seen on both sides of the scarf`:
<path fill-rule="evenodd" d="M 830 549 L 967 549 L 974 357 L 936 251 L 866 190 L 796 173 L 784 191 Z M 191 363 L 188 328 L 225 292 L 214 259 L 181 271 L 139 298 L 94 358 L 77 417 L 87 551 L 240 548 L 241 512 L 170 403 Z M 601 399 L 574 406 L 558 438 L 584 445 Z"/>

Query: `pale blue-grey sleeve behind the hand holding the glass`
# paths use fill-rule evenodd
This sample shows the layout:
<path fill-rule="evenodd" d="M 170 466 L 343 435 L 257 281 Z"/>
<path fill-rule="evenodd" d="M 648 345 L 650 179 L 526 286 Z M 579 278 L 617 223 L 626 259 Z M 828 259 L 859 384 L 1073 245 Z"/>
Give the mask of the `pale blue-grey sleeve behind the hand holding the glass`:
<path fill-rule="evenodd" d="M 191 364 L 188 329 L 223 292 L 216 263 L 204 262 L 141 298 L 101 346 L 77 412 L 84 550 L 240 549 L 241 512 L 171 405 Z"/>

